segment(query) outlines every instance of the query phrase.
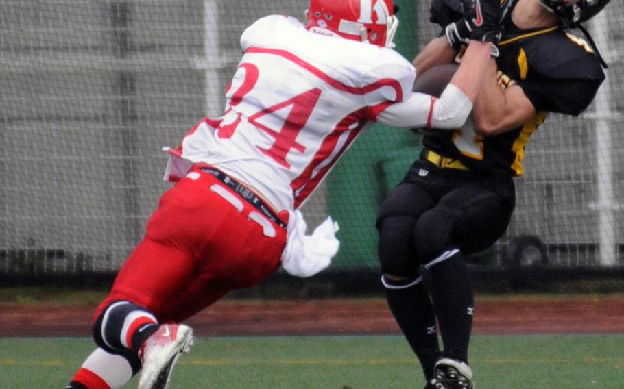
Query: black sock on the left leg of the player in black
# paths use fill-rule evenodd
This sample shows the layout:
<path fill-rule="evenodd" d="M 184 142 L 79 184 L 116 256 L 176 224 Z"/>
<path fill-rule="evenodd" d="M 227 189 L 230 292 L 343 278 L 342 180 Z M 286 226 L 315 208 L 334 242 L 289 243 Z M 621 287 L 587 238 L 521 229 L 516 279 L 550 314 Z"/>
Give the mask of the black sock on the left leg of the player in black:
<path fill-rule="evenodd" d="M 387 279 L 386 282 L 390 286 L 395 284 Z M 433 305 L 427 289 L 420 282 L 408 288 L 386 288 L 385 295 L 396 323 L 416 353 L 424 377 L 429 381 L 433 378 L 433 366 L 440 359 L 440 345 L 437 341 Z"/>

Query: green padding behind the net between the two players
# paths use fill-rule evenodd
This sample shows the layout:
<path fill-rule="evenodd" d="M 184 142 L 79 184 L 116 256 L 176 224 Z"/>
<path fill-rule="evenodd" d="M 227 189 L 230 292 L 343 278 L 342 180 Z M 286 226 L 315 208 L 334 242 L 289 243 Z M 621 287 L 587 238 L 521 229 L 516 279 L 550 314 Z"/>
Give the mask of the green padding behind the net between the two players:
<path fill-rule="evenodd" d="M 400 6 L 396 50 L 416 55 L 417 1 Z M 375 218 L 381 201 L 418 157 L 420 141 L 409 129 L 374 125 L 355 141 L 327 178 L 328 213 L 338 221 L 340 251 L 332 268 L 377 266 Z"/>

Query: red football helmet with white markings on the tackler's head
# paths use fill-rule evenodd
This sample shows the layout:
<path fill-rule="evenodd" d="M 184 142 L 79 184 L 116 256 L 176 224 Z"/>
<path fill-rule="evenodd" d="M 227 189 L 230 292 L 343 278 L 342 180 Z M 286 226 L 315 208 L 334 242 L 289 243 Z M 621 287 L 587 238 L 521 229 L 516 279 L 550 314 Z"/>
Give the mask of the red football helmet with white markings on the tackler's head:
<path fill-rule="evenodd" d="M 307 29 L 325 35 L 394 47 L 398 19 L 393 0 L 310 0 Z"/>

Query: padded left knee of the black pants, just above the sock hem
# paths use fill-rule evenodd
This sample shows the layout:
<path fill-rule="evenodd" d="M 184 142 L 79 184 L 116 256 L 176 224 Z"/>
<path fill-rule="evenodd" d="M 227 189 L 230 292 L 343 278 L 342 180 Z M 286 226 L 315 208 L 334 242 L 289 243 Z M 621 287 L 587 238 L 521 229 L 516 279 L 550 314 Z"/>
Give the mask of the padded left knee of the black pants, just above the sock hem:
<path fill-rule="evenodd" d="M 418 260 L 413 249 L 414 223 L 409 216 L 389 216 L 377 224 L 382 273 L 414 277 L 418 272 Z"/>

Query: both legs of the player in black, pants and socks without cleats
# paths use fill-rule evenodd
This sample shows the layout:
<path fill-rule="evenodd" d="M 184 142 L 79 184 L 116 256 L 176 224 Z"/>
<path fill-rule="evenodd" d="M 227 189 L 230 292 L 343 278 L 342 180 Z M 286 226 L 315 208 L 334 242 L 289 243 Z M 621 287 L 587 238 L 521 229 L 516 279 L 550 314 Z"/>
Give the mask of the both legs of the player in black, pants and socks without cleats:
<path fill-rule="evenodd" d="M 464 254 L 496 242 L 514 204 L 509 177 L 481 177 L 418 160 L 381 206 L 381 270 L 402 278 L 382 279 L 387 303 L 427 381 L 442 357 L 468 363 L 474 297 Z M 430 291 L 418 276 L 421 265 L 431 271 Z"/>

